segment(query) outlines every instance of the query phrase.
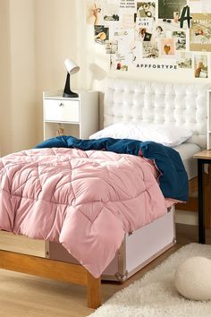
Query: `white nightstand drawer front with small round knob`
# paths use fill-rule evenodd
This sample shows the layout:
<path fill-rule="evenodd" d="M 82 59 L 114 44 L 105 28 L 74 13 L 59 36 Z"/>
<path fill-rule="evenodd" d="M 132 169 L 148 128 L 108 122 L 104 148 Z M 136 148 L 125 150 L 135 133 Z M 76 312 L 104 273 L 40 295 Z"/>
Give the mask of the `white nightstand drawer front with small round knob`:
<path fill-rule="evenodd" d="M 46 121 L 80 122 L 79 100 L 44 100 L 44 116 Z"/>

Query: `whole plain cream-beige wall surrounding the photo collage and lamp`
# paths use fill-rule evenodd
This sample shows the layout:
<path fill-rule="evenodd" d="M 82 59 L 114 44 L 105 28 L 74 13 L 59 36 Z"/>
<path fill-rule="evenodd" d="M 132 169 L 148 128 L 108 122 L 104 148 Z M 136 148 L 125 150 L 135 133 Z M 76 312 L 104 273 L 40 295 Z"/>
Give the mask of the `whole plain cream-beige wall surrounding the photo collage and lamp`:
<path fill-rule="evenodd" d="M 93 26 L 86 24 L 86 0 L 0 0 L 0 35 L 2 154 L 42 141 L 42 92 L 63 89 L 67 57 L 80 64 L 73 89 L 103 91 L 107 75 L 206 81 L 195 80 L 191 71 L 109 72 L 104 47 L 94 44 Z"/>

